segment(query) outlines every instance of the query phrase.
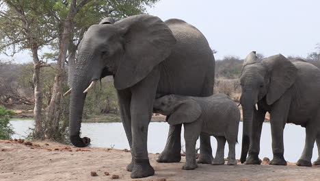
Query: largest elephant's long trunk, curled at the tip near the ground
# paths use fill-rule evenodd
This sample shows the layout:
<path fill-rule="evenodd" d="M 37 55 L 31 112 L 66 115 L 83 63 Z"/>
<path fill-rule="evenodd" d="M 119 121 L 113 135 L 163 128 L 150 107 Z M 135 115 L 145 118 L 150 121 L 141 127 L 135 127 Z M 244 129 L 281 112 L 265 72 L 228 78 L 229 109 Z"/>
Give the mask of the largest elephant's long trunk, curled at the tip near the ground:
<path fill-rule="evenodd" d="M 85 103 L 86 93 L 83 93 L 92 81 L 92 76 L 88 75 L 90 64 L 84 60 L 88 56 L 79 56 L 77 68 L 72 80 L 72 93 L 70 97 L 70 115 L 69 115 L 69 136 L 72 145 L 76 147 L 86 147 L 90 144 L 90 138 L 80 138 L 80 128 Z"/>

